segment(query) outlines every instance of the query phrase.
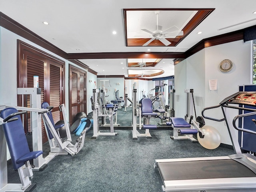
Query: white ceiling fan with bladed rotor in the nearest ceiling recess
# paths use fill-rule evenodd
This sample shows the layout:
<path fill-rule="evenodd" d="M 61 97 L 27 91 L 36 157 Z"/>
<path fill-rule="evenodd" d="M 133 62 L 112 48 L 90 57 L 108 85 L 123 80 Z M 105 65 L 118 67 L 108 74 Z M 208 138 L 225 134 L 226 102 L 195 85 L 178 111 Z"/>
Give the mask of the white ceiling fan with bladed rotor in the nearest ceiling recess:
<path fill-rule="evenodd" d="M 158 25 L 158 14 L 160 13 L 160 11 L 156 11 L 156 30 L 154 32 L 147 30 L 147 29 L 142 29 L 142 31 L 150 33 L 152 35 L 152 38 L 150 40 L 148 40 L 145 44 L 143 44 L 142 46 L 147 46 L 148 44 L 150 44 L 152 41 L 154 40 L 159 40 L 160 42 L 162 42 L 165 46 L 168 46 L 171 44 L 170 41 L 168 41 L 166 38 L 176 38 L 176 36 L 182 36 L 184 35 L 183 31 L 179 31 L 179 28 L 177 26 L 172 26 L 164 31 L 162 31 L 162 26 Z M 172 32 L 168 32 L 170 31 L 172 28 L 176 28 L 176 30 L 172 30 Z"/>

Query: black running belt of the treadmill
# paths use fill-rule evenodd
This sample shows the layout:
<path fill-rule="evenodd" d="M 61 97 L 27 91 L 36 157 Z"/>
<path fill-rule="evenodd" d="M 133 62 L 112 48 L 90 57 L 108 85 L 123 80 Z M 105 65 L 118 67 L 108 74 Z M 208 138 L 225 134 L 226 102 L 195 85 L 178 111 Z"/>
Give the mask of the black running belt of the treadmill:
<path fill-rule="evenodd" d="M 158 162 L 158 169 L 163 181 L 256 177 L 252 170 L 232 159 Z"/>

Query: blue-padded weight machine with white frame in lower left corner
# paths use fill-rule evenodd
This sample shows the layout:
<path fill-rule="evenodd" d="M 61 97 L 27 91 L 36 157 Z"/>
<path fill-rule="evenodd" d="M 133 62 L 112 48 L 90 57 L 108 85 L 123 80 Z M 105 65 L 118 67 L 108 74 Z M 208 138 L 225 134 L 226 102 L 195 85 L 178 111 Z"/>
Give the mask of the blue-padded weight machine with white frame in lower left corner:
<path fill-rule="evenodd" d="M 0 192 L 15 191 L 24 192 L 32 191 L 36 187 L 29 178 L 33 178 L 30 160 L 42 158 L 43 151 L 30 152 L 28 142 L 20 118 L 21 114 L 15 108 L 2 108 L 0 114 Z M 14 170 L 18 170 L 21 184 L 8 183 L 7 176 L 7 153 L 6 143 L 9 148 L 10 156 Z"/>

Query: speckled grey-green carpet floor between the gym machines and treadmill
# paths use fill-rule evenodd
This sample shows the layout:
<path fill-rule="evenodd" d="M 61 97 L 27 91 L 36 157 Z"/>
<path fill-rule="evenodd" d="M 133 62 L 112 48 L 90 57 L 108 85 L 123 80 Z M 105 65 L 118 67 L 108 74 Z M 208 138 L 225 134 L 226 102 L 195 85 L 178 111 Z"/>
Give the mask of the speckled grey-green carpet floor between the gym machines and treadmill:
<path fill-rule="evenodd" d="M 103 130 L 106 131 L 106 130 Z M 92 139 L 75 156 L 56 156 L 42 172 L 34 171 L 34 192 L 160 192 L 162 180 L 153 168 L 155 159 L 226 156 L 233 150 L 207 150 L 189 140 L 171 140 L 172 130 L 152 130 L 152 138 L 132 140 L 132 130 Z M 43 145 L 49 150 L 48 142 Z M 8 163 L 8 181 L 20 183 Z"/>

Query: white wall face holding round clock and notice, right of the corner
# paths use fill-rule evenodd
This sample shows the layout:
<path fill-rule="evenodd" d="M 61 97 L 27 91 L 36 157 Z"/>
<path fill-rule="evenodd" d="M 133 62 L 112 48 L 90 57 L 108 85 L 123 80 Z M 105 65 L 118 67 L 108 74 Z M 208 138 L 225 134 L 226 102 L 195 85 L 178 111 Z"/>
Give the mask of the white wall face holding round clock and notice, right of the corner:
<path fill-rule="evenodd" d="M 250 84 L 251 81 L 251 42 L 243 40 L 226 43 L 218 46 L 212 46 L 205 49 L 206 53 L 206 70 L 205 70 L 205 106 L 218 105 L 224 98 L 238 92 L 238 85 Z M 219 63 L 229 59 L 233 62 L 234 67 L 230 72 L 219 70 Z M 217 90 L 209 90 L 209 79 L 217 79 Z M 238 114 L 237 110 L 226 109 L 227 119 L 231 128 L 234 116 Z M 209 116 L 222 118 L 221 111 L 212 110 Z M 222 143 L 230 144 L 231 140 L 224 122 L 206 121 L 207 124 L 214 126 L 221 133 Z"/>

